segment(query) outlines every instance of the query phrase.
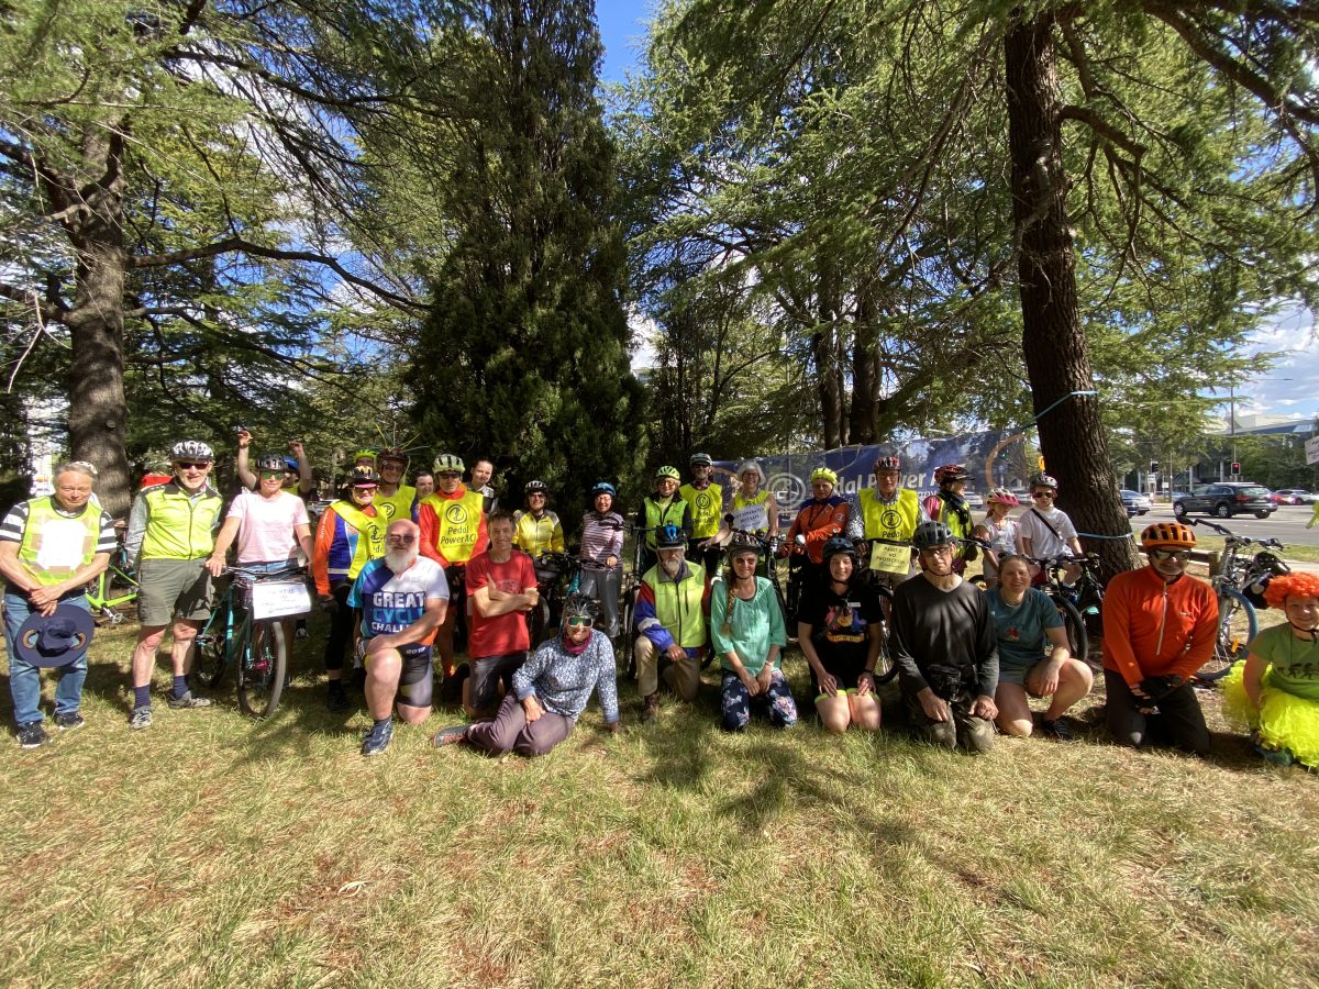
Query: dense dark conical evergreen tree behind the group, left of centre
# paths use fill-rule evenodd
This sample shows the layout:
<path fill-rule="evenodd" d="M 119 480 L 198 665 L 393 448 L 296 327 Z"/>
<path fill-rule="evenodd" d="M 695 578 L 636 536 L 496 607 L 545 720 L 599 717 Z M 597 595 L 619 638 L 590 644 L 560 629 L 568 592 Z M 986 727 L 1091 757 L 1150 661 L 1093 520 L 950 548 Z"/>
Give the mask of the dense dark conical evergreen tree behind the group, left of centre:
<path fill-rule="evenodd" d="M 491 0 L 463 28 L 419 418 L 437 450 L 491 456 L 512 487 L 543 477 L 575 506 L 627 472 L 640 435 L 595 8 Z"/>

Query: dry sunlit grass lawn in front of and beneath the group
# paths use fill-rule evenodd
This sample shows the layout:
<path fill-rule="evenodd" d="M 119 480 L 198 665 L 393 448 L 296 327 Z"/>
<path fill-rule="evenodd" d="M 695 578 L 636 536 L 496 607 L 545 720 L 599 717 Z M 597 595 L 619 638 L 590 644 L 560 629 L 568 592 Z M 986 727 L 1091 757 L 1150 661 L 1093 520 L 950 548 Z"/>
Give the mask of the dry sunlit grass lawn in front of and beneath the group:
<path fill-rule="evenodd" d="M 592 707 L 538 761 L 435 750 L 443 712 L 364 760 L 307 642 L 276 717 L 222 690 L 131 733 L 131 636 L 84 729 L 0 761 L 0 984 L 1319 984 L 1319 781 L 1212 694 L 1208 762 L 1107 744 L 1093 700 L 1080 742 L 981 758 L 892 703 L 877 737 L 728 736 L 714 674 L 652 727 L 623 684 L 623 734 Z"/>

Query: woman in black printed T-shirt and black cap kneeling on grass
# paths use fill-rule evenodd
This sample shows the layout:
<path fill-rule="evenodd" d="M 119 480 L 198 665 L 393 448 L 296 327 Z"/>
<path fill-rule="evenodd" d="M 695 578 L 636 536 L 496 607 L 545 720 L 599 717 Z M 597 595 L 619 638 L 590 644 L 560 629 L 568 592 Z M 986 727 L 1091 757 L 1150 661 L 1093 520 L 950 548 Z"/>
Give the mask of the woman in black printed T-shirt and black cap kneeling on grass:
<path fill-rule="evenodd" d="M 874 663 L 880 658 L 880 601 L 842 535 L 820 549 L 820 576 L 802 589 L 797 642 L 811 669 L 811 695 L 820 724 L 842 734 L 848 725 L 880 727 Z"/>

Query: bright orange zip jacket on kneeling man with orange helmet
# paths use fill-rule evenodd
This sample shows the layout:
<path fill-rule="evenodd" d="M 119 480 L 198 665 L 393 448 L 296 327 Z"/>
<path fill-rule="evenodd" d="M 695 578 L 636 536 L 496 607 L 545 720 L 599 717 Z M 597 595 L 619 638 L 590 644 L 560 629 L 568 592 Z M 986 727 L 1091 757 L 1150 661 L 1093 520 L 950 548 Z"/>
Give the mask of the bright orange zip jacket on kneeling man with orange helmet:
<path fill-rule="evenodd" d="M 1183 574 L 1169 584 L 1153 567 L 1119 574 L 1104 592 L 1104 669 L 1136 687 L 1146 676 L 1188 680 L 1213 654 L 1219 601 Z"/>

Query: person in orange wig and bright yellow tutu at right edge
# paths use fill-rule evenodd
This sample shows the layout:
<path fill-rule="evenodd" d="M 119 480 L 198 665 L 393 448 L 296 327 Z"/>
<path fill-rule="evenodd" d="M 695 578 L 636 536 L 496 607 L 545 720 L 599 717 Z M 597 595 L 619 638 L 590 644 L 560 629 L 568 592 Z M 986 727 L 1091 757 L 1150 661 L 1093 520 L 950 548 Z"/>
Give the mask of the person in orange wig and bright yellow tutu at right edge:
<path fill-rule="evenodd" d="M 1250 640 L 1223 682 L 1223 709 L 1266 762 L 1319 769 L 1319 576 L 1275 576 L 1264 599 L 1287 620 Z"/>

